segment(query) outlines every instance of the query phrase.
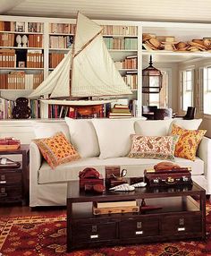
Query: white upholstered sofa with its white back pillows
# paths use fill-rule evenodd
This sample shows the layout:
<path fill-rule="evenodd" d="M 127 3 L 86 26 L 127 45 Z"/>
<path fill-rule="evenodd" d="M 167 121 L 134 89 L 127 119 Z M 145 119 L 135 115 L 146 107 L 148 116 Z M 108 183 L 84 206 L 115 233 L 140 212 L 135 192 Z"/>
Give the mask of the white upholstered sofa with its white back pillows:
<path fill-rule="evenodd" d="M 62 131 L 80 153 L 81 158 L 51 169 L 40 155 L 37 144 L 30 143 L 30 207 L 66 204 L 67 182 L 78 179 L 79 171 L 94 166 L 105 176 L 105 166 L 121 166 L 127 176 L 142 176 L 146 168 L 162 161 L 155 158 L 128 158 L 131 133 L 151 136 L 170 134 L 172 124 L 198 129 L 201 119 L 155 120 L 141 119 L 70 119 L 66 123 L 34 125 L 37 138 L 49 137 Z M 197 158 L 191 161 L 175 158 L 181 166 L 191 166 L 192 179 L 211 193 L 211 139 L 203 138 Z"/>

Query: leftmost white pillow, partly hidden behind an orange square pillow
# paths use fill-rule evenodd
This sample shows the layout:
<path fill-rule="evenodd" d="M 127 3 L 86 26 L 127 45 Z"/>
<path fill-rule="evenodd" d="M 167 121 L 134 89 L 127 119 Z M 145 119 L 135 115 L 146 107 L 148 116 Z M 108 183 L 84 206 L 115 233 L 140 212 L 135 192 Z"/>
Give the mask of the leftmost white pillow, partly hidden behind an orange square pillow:
<path fill-rule="evenodd" d="M 68 141 L 71 141 L 70 132 L 66 123 L 42 122 L 33 124 L 36 139 L 54 136 L 56 132 L 63 132 Z"/>

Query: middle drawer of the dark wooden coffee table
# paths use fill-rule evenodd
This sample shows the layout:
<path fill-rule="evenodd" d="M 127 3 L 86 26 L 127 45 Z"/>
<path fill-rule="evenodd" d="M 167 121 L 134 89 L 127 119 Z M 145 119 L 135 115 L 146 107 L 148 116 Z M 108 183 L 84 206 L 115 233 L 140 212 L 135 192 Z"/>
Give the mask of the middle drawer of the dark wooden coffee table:
<path fill-rule="evenodd" d="M 119 223 L 120 238 L 158 235 L 158 218 L 129 218 Z"/>

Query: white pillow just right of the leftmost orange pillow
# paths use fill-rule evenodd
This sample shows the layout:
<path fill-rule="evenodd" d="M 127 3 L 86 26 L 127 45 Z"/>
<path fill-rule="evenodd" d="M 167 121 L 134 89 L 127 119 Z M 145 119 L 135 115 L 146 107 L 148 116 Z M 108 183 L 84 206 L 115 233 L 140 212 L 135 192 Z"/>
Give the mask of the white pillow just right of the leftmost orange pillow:
<path fill-rule="evenodd" d="M 65 117 L 69 127 L 73 147 L 79 152 L 81 158 L 99 156 L 97 133 L 90 119 L 72 119 Z"/>

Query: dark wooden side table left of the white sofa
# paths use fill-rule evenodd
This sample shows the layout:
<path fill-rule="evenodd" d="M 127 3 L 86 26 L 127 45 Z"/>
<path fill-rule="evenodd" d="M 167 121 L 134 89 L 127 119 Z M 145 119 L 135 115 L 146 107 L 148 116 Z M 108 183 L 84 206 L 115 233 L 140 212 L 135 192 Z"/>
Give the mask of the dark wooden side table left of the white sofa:
<path fill-rule="evenodd" d="M 1 150 L 6 155 L 21 155 L 19 168 L 0 168 L 0 203 L 29 203 L 30 191 L 30 146 L 22 144 L 19 149 Z"/>

